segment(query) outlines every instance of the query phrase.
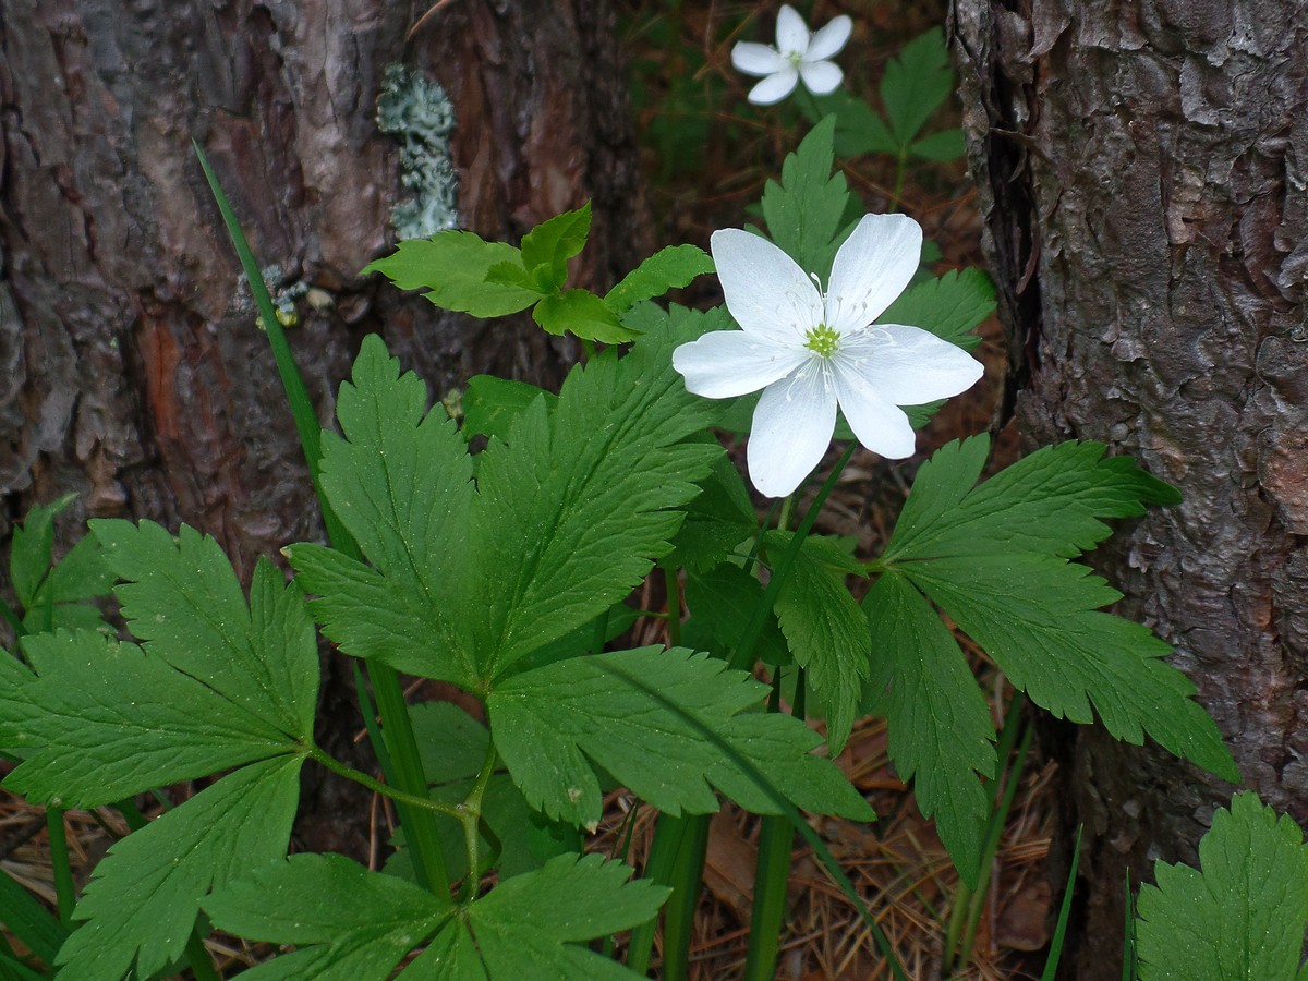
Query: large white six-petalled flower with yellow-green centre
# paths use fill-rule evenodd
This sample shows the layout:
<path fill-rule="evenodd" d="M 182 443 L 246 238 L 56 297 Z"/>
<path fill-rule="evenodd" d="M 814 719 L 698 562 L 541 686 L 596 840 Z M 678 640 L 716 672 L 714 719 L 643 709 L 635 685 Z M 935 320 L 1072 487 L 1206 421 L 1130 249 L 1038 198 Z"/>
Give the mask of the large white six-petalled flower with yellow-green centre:
<path fill-rule="evenodd" d="M 922 229 L 867 215 L 836 252 L 827 292 L 783 251 L 740 229 L 714 232 L 713 262 L 739 331 L 713 331 L 672 352 L 685 387 L 709 399 L 763 388 L 749 433 L 749 479 L 785 497 L 831 445 L 837 404 L 858 442 L 891 459 L 916 438 L 900 405 L 971 388 L 981 362 L 920 327 L 872 323 L 904 292 Z"/>

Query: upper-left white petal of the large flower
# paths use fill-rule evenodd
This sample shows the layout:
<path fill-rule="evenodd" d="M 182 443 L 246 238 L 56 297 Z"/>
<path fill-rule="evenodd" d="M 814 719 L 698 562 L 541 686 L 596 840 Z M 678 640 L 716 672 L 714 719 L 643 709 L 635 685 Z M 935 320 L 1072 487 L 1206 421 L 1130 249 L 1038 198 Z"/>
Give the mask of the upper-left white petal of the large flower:
<path fill-rule="evenodd" d="M 727 310 L 757 339 L 803 347 L 804 335 L 821 323 L 818 286 L 795 260 L 761 235 L 738 228 L 709 239 Z"/>

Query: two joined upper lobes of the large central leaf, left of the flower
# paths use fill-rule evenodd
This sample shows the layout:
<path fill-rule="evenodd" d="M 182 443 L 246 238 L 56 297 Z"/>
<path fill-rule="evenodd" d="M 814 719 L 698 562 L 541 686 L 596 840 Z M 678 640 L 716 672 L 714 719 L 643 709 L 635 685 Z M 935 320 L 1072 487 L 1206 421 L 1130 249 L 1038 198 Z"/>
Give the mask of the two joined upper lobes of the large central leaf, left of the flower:
<path fill-rule="evenodd" d="M 443 409 L 424 415 L 421 382 L 366 340 L 323 488 L 371 568 L 288 549 L 323 632 L 345 653 L 484 688 L 621 600 L 671 549 L 674 509 L 722 454 L 685 442 L 710 409 L 685 392 L 670 343 L 576 369 L 552 409 L 514 408 L 473 489 Z"/>

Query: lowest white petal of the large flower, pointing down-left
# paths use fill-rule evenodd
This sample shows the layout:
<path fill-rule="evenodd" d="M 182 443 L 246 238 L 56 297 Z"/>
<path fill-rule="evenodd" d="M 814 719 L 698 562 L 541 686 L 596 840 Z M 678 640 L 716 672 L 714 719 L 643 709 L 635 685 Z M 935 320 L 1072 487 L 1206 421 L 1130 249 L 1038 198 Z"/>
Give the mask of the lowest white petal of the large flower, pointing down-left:
<path fill-rule="evenodd" d="M 768 386 L 753 411 L 749 480 L 768 497 L 793 493 L 821 463 L 836 429 L 836 391 L 818 358 Z"/>

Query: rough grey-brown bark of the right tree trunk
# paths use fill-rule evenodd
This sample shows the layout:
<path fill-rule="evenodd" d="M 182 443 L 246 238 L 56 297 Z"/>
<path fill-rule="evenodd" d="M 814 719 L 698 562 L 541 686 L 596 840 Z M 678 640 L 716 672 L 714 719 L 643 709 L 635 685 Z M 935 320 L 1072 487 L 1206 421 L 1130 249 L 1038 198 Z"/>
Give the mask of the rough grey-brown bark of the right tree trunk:
<path fill-rule="evenodd" d="M 1107 441 L 1185 504 L 1095 556 L 1245 783 L 1308 819 L 1308 12 L 1292 0 L 956 0 L 969 156 L 1031 445 Z M 1117 977 L 1122 882 L 1196 857 L 1230 787 L 1065 734 L 1078 976 Z"/>

